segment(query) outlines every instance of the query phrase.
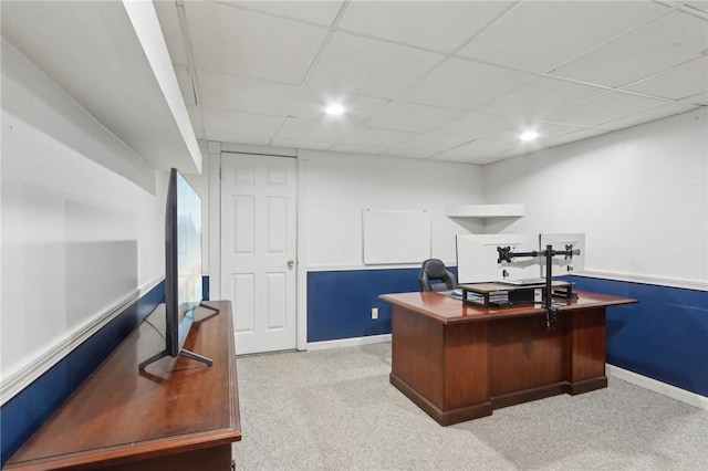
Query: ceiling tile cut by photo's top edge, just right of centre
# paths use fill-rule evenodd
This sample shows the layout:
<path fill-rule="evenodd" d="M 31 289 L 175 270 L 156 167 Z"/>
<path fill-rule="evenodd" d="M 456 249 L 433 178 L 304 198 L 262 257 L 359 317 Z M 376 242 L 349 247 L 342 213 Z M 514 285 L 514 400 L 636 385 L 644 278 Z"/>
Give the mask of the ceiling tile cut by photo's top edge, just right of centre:
<path fill-rule="evenodd" d="M 355 1 L 346 10 L 340 28 L 449 53 L 511 4 L 513 2 L 504 1 Z"/>

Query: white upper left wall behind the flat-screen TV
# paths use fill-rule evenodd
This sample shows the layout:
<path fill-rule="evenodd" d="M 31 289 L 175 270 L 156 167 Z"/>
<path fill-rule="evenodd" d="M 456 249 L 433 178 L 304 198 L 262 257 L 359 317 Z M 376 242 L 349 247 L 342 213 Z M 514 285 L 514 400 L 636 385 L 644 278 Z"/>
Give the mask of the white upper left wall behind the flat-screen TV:
<path fill-rule="evenodd" d="M 2 42 L 3 379 L 164 276 L 153 171 Z"/>

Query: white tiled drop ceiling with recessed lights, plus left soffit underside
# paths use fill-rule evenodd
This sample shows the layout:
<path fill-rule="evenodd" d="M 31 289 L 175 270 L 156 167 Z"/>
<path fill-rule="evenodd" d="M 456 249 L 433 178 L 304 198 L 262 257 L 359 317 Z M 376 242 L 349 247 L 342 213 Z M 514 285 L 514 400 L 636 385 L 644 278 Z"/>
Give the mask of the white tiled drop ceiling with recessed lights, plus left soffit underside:
<path fill-rule="evenodd" d="M 165 118 L 145 105 L 155 85 L 126 59 L 139 54 L 111 27 L 125 24 L 112 4 L 4 0 L 2 34 L 138 154 L 155 154 L 143 143 L 165 144 L 175 125 L 152 124 Z M 708 1 L 154 6 L 207 142 L 488 164 L 708 106 Z M 98 93 L 101 82 L 116 93 Z M 326 115 L 332 103 L 346 112 Z M 522 143 L 530 129 L 539 139 Z"/>

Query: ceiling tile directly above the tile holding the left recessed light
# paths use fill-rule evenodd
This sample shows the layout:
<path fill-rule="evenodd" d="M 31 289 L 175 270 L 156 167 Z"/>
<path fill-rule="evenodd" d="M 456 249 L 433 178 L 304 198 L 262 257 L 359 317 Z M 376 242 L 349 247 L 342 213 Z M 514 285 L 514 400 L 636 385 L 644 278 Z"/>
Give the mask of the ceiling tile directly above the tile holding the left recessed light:
<path fill-rule="evenodd" d="M 314 67 L 308 88 L 329 95 L 395 97 L 444 56 L 413 48 L 335 33 Z"/>

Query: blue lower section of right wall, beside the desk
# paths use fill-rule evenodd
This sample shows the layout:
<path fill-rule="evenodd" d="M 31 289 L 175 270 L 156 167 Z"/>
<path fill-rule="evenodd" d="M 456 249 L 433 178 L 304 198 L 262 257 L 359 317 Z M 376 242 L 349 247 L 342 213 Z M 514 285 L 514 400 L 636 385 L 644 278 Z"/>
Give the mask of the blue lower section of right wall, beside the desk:
<path fill-rule="evenodd" d="M 708 397 L 708 292 L 569 276 L 580 290 L 634 297 L 607 308 L 607 363 Z"/>

